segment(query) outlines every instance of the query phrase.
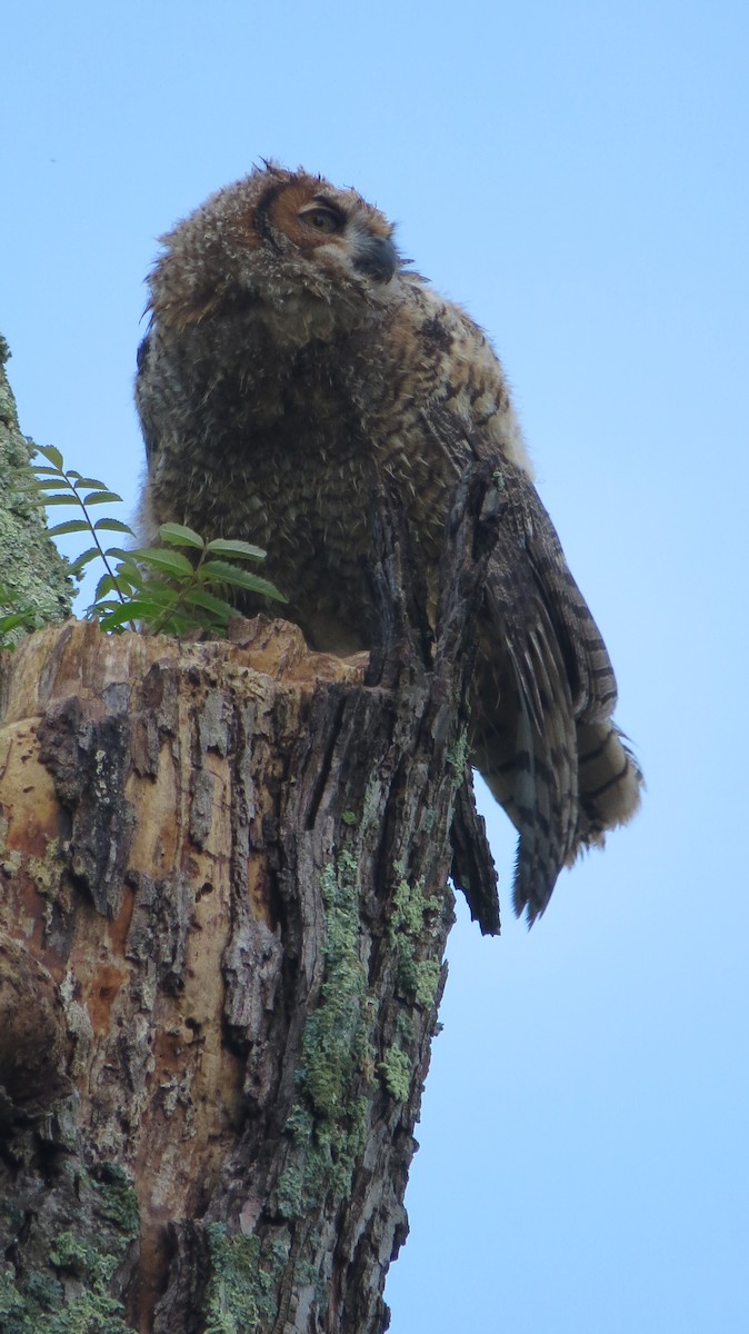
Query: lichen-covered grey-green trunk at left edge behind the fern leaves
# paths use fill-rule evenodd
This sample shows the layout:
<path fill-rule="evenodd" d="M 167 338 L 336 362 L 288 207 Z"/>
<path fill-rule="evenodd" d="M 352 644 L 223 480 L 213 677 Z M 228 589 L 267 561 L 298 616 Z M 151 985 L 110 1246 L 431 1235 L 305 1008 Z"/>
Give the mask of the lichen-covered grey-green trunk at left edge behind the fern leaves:
<path fill-rule="evenodd" d="M 0 336 L 0 615 L 27 608 L 33 628 L 65 620 L 75 587 L 65 560 L 47 536 L 44 507 L 29 488 L 35 480 L 29 467 L 33 444 L 19 428 L 4 370 L 9 355 Z"/>

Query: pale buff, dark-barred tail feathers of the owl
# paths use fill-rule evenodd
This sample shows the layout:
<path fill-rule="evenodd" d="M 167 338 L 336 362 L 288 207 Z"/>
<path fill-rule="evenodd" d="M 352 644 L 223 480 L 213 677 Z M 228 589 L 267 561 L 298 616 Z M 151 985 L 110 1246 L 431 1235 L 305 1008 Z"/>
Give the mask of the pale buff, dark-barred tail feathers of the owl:
<path fill-rule="evenodd" d="M 566 864 L 588 847 L 602 847 L 606 830 L 626 824 L 640 806 L 642 771 L 616 723 L 577 724 L 578 819 Z"/>

